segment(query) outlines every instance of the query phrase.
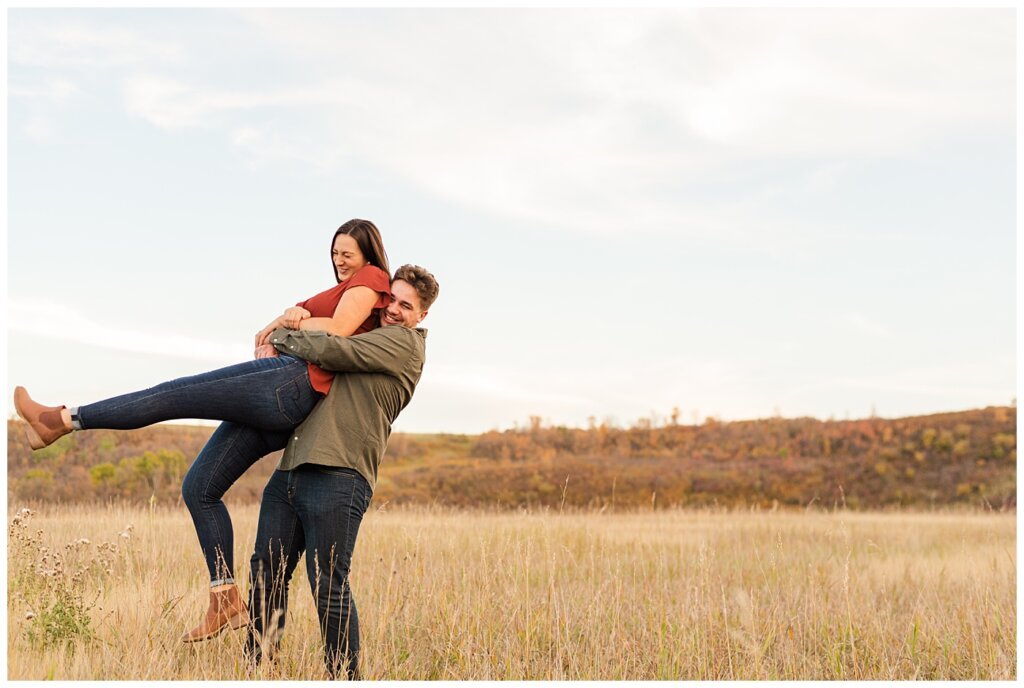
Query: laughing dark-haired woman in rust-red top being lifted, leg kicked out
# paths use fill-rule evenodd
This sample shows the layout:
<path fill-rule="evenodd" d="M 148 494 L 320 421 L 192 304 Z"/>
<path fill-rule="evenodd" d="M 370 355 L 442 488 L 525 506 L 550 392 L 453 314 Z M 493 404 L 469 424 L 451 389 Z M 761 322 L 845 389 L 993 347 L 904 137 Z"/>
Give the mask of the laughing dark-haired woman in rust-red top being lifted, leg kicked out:
<path fill-rule="evenodd" d="M 368 220 L 349 220 L 331 241 L 337 286 L 317 294 L 256 334 L 255 359 L 210 373 L 179 378 L 150 389 L 78 407 L 44 406 L 24 387 L 14 406 L 28 423 L 32 448 L 74 430 L 140 428 L 160 421 L 202 418 L 225 421 L 210 437 L 181 483 L 210 571 L 210 605 L 203 621 L 182 636 L 207 640 L 224 628 L 248 620 L 234 585 L 233 531 L 221 498 L 261 457 L 285 447 L 315 403 L 327 395 L 334 374 L 268 343 L 281 327 L 318 330 L 338 336 L 378 327 L 378 312 L 390 302 L 387 254 L 380 231 Z"/>

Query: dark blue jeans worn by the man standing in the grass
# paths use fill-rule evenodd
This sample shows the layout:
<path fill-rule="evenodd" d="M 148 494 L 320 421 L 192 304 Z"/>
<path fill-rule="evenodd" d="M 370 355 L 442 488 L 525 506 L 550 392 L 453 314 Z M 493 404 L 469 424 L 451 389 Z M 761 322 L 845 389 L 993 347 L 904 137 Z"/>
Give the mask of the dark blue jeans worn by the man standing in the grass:
<path fill-rule="evenodd" d="M 306 555 L 306 576 L 316 600 L 324 662 L 331 678 L 357 676 L 359 619 L 348 571 L 370 484 L 356 471 L 303 464 L 274 471 L 263 489 L 256 546 L 250 564 L 246 650 L 258 662 L 281 642 L 288 610 L 288 584 Z"/>

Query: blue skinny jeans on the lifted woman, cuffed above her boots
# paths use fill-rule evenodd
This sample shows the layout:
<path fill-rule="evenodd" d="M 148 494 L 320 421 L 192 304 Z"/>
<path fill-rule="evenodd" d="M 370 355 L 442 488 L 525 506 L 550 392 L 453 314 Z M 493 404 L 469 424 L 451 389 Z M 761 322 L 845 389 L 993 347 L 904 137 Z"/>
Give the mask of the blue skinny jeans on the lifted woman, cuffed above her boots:
<path fill-rule="evenodd" d="M 128 430 L 160 421 L 221 423 L 181 483 L 211 585 L 233 583 L 234 534 L 221 498 L 262 457 L 285 448 L 291 431 L 321 398 L 306 361 L 257 358 L 78 408 L 83 429 Z"/>

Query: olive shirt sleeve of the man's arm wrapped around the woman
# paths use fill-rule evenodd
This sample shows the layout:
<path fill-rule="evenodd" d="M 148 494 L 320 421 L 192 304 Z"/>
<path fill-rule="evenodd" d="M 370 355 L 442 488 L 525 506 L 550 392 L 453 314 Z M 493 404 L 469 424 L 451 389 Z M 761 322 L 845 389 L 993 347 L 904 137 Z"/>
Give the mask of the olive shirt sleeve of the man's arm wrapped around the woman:
<path fill-rule="evenodd" d="M 395 329 L 395 332 L 387 332 Z M 274 330 L 270 343 L 282 353 L 304 358 L 335 373 L 385 373 L 398 377 L 413 356 L 411 332 L 378 328 L 352 337 L 312 330 Z"/>

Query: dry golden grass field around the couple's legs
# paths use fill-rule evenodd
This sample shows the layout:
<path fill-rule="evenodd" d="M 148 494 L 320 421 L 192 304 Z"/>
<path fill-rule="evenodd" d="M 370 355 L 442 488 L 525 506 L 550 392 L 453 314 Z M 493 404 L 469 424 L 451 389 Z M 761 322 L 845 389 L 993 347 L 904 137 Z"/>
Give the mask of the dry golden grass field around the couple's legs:
<path fill-rule="evenodd" d="M 183 508 L 8 528 L 10 679 L 324 678 L 302 565 L 276 664 L 178 642 L 207 585 Z M 401 509 L 351 582 L 371 679 L 1015 679 L 1015 577 L 1012 513 Z"/>

